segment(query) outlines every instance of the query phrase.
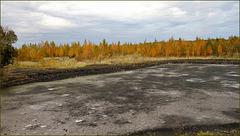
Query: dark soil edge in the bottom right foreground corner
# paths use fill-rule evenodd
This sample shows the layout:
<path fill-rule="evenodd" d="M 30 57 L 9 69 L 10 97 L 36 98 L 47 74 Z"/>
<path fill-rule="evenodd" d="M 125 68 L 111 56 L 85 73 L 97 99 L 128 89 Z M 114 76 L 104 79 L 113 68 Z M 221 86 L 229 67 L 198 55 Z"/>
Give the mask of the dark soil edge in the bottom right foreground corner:
<path fill-rule="evenodd" d="M 237 130 L 239 133 L 239 123 L 213 124 L 213 125 L 195 125 L 195 126 L 177 126 L 175 128 L 156 128 L 133 132 L 125 135 L 196 135 L 199 132 L 223 132 Z"/>

